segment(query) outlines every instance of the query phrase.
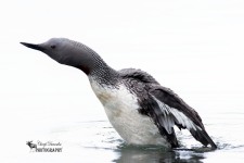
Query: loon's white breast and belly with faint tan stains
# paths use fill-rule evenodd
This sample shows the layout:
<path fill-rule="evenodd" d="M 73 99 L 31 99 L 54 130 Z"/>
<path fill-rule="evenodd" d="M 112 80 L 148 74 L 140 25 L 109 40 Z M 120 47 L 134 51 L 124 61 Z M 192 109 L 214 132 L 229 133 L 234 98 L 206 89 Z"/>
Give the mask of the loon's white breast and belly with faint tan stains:
<path fill-rule="evenodd" d="M 101 86 L 93 79 L 90 79 L 90 83 L 111 124 L 127 143 L 170 147 L 150 117 L 138 112 L 137 97 L 129 92 L 125 85 L 111 88 Z"/>

